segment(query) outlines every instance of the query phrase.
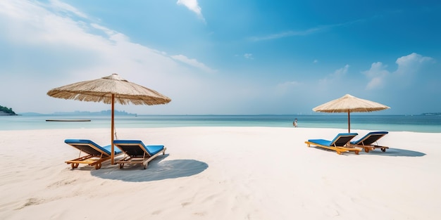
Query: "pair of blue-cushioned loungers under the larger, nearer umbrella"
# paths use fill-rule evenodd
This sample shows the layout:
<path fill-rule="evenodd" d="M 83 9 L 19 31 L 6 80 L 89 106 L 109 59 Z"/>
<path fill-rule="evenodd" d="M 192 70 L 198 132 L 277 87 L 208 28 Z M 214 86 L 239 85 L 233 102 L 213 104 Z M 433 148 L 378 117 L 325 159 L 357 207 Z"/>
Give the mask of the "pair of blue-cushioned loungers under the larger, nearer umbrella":
<path fill-rule="evenodd" d="M 64 142 L 80 150 L 80 155 L 86 154 L 66 161 L 67 164 L 71 164 L 72 169 L 77 168 L 79 164 L 89 164 L 99 169 L 102 162 L 111 159 L 111 145 L 101 147 L 93 141 L 84 139 L 66 139 Z M 160 153 L 164 155 L 167 149 L 163 145 L 144 145 L 142 141 L 135 140 L 115 140 L 113 144 L 116 146 L 115 156 L 124 154 L 122 159 L 116 161 L 116 164 L 120 164 L 120 169 L 124 164 L 142 164 L 144 169 L 147 169 L 147 164 Z"/>

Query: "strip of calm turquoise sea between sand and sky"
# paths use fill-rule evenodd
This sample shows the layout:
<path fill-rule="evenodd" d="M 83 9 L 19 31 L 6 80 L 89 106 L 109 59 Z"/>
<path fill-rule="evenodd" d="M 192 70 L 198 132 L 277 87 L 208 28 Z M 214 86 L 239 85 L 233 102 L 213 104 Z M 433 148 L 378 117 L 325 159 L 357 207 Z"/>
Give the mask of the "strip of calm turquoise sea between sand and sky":
<path fill-rule="evenodd" d="M 116 115 L 118 128 L 298 127 L 347 129 L 347 114 L 325 115 Z M 75 120 L 82 120 L 75 122 Z M 350 115 L 351 130 L 441 133 L 441 115 Z M 110 115 L 0 116 L 0 130 L 92 129 L 111 127 Z"/>

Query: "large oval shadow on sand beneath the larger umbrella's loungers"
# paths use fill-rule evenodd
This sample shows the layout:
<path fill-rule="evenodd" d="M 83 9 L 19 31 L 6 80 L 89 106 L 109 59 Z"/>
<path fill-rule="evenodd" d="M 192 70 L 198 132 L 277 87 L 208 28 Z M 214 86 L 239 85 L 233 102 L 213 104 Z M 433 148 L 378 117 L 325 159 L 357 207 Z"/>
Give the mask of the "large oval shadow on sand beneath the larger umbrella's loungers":
<path fill-rule="evenodd" d="M 140 164 L 125 164 L 123 169 L 119 169 L 119 165 L 113 165 L 108 168 L 94 169 L 91 174 L 102 179 L 146 182 L 193 176 L 209 167 L 205 162 L 198 160 L 167 160 L 161 162 L 166 157 L 168 157 L 168 154 L 156 157 L 149 162 L 147 169 L 144 169 Z"/>

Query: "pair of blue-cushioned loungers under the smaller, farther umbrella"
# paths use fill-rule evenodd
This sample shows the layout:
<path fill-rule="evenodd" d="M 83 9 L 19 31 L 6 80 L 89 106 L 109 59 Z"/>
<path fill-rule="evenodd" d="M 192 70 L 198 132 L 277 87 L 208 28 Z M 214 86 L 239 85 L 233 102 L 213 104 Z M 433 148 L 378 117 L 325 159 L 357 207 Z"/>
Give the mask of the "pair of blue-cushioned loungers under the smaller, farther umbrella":
<path fill-rule="evenodd" d="M 375 148 L 380 148 L 381 151 L 385 152 L 388 147 L 377 145 L 376 143 L 378 139 L 386 134 L 388 134 L 387 131 L 372 131 L 358 141 L 351 141 L 352 138 L 358 135 L 357 133 L 341 133 L 337 134 L 332 141 L 324 139 L 309 139 L 308 141 L 305 141 L 305 143 L 308 147 L 315 145 L 320 148 L 335 150 L 339 155 L 348 151 L 354 152 L 358 155 L 361 149 L 364 149 L 364 151 L 368 153 L 369 150 L 375 150 Z"/>

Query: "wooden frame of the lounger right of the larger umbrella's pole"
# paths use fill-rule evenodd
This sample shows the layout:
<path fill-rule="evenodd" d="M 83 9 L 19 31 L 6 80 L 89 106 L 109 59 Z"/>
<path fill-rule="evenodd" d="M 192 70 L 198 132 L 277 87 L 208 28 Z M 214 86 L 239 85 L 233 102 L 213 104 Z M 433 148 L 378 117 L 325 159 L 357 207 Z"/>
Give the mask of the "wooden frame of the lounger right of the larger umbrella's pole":
<path fill-rule="evenodd" d="M 118 140 L 120 141 L 120 140 Z M 147 149 L 144 148 L 144 145 L 142 144 L 142 142 L 139 141 L 139 143 L 115 143 L 113 142 L 113 144 L 116 145 L 116 147 L 120 148 L 121 151 L 123 151 L 124 153 L 124 157 L 118 161 L 116 161 L 117 164 L 120 164 L 120 169 L 123 169 L 124 164 L 142 164 L 144 169 L 147 169 L 147 165 L 149 164 L 149 162 L 151 160 L 153 160 L 155 157 L 157 157 L 159 154 L 162 153 L 162 155 L 166 154 L 166 147 L 163 147 L 162 150 L 160 150 L 158 153 L 156 153 L 155 155 L 150 155 L 149 152 L 147 152 Z M 121 147 L 120 145 L 124 145 L 124 147 Z M 127 153 L 126 150 L 124 150 L 124 148 L 126 147 L 133 147 L 133 148 L 139 148 L 142 149 L 143 155 L 130 155 Z M 147 147 L 147 146 L 146 146 Z"/>

